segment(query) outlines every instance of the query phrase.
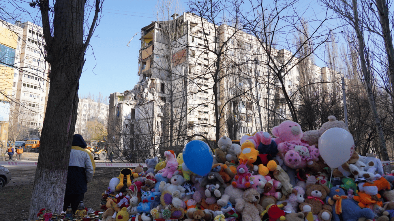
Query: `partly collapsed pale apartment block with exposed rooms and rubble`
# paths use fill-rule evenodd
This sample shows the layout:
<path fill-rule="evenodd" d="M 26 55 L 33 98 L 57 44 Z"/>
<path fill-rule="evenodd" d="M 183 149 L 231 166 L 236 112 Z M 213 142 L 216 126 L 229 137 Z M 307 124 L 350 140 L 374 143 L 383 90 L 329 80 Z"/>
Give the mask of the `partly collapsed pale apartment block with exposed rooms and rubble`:
<path fill-rule="evenodd" d="M 255 36 L 193 13 L 172 17 L 141 29 L 139 82 L 110 95 L 110 146 L 126 155 L 143 147 L 156 155 L 179 153 L 189 140 L 215 140 L 216 129 L 233 139 L 264 130 L 268 109 L 289 114 L 285 102 L 275 101 L 283 98 L 278 88 L 267 86 L 277 81 L 261 65 L 267 58 Z M 286 50 L 275 53 L 277 64 L 291 57 Z M 299 85 L 293 69 L 284 82 L 290 94 Z M 326 70 L 314 66 L 316 79 L 328 79 Z"/>

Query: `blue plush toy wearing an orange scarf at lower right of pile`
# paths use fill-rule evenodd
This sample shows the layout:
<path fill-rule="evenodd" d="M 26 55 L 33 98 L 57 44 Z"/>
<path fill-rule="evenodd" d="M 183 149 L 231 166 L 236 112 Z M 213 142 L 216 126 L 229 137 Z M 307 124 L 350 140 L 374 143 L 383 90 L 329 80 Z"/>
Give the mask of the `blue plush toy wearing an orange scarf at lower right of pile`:
<path fill-rule="evenodd" d="M 326 202 L 335 201 L 333 206 L 333 221 L 340 221 L 339 214 L 343 221 L 357 221 L 360 217 L 374 219 L 374 212 L 370 208 L 360 208 L 357 203 L 348 199 L 342 188 L 334 186 L 330 189 L 330 193 L 326 198 Z"/>

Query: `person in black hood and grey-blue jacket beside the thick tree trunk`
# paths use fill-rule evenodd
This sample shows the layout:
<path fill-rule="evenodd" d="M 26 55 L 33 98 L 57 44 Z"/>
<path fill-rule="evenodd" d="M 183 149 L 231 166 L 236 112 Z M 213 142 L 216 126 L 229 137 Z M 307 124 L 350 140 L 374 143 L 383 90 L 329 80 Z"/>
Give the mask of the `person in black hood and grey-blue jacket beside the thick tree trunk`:
<path fill-rule="evenodd" d="M 68 206 L 71 206 L 72 212 L 75 213 L 80 201 L 84 201 L 87 183 L 92 180 L 95 173 L 95 161 L 90 153 L 85 150 L 85 147 L 86 142 L 84 138 L 80 134 L 74 134 L 63 211 L 66 211 Z"/>

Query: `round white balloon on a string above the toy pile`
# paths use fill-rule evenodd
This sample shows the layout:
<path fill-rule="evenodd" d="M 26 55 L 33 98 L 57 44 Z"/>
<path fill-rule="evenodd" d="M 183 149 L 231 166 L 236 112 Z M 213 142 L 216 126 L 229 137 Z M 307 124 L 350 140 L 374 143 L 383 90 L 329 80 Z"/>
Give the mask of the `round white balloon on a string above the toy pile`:
<path fill-rule="evenodd" d="M 330 128 L 319 138 L 320 156 L 331 168 L 338 168 L 348 161 L 353 151 L 353 136 L 345 129 Z"/>

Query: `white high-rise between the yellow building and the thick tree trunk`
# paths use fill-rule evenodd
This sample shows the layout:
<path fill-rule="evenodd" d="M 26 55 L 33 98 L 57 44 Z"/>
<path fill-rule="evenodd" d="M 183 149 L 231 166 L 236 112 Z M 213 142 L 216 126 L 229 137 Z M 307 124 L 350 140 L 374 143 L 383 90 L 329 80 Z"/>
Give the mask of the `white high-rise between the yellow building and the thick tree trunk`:
<path fill-rule="evenodd" d="M 25 127 L 22 138 L 39 138 L 43 127 L 49 90 L 49 65 L 44 59 L 42 28 L 32 22 L 16 22 L 22 33 L 15 56 L 11 116 L 14 124 Z"/>

